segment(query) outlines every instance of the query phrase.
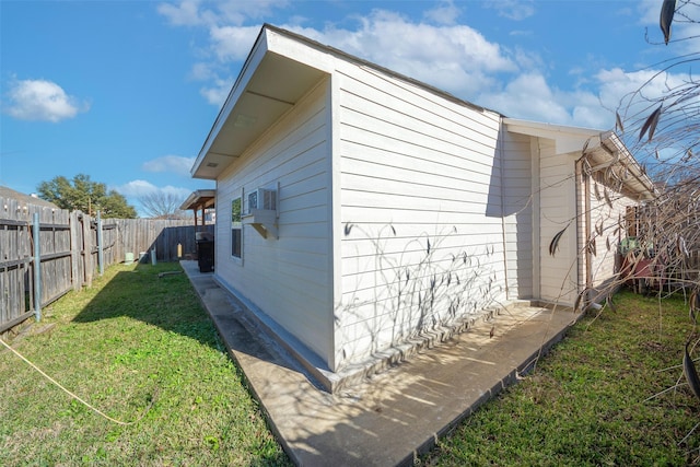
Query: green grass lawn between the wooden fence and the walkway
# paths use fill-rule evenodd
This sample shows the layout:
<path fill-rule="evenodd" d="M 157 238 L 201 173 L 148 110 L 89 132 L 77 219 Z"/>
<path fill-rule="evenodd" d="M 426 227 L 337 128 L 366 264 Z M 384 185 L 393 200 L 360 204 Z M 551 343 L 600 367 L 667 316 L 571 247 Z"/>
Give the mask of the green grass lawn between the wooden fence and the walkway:
<path fill-rule="evenodd" d="M 0 348 L 0 465 L 288 465 L 177 264 L 114 266 Z"/>

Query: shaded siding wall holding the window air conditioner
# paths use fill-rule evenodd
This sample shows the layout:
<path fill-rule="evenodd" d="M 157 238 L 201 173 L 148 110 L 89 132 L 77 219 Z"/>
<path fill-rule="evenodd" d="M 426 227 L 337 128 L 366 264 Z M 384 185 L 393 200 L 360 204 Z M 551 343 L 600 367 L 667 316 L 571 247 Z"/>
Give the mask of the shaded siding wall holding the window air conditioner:
<path fill-rule="evenodd" d="M 332 355 L 329 219 L 329 81 L 310 92 L 220 177 L 218 280 L 237 291 L 325 361 Z M 244 225 L 243 260 L 231 256 L 231 200 L 279 192 L 279 240 Z M 244 200 L 244 206 L 247 205 Z"/>

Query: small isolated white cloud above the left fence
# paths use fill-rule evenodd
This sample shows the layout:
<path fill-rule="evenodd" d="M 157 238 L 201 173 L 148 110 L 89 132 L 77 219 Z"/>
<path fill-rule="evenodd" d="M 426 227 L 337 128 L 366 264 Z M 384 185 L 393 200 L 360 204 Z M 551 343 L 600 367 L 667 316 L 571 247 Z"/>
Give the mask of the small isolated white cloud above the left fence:
<path fill-rule="evenodd" d="M 5 112 L 20 120 L 58 122 L 90 106 L 81 104 L 58 84 L 46 80 L 20 80 L 10 85 Z"/>

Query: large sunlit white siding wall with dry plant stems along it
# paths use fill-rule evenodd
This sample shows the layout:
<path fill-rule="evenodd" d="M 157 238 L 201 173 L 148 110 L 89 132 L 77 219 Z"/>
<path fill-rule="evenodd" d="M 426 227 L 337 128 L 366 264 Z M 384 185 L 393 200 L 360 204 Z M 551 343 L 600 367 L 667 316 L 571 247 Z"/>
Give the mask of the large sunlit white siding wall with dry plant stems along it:
<path fill-rule="evenodd" d="M 499 115 L 378 71 L 336 71 L 345 364 L 505 299 Z"/>

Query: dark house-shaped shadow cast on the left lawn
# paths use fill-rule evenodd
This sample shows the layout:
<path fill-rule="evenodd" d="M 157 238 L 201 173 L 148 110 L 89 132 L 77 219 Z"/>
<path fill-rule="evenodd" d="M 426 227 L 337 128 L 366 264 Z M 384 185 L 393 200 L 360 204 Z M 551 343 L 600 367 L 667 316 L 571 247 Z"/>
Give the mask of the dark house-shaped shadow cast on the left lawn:
<path fill-rule="evenodd" d="M 73 322 L 93 323 L 121 316 L 221 349 L 209 315 L 177 262 L 138 264 L 133 269 L 117 272 Z"/>

